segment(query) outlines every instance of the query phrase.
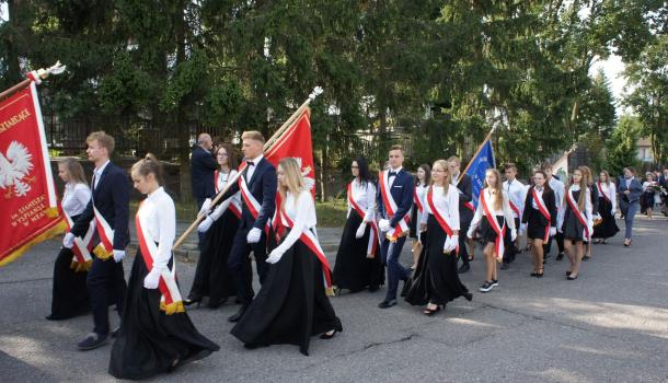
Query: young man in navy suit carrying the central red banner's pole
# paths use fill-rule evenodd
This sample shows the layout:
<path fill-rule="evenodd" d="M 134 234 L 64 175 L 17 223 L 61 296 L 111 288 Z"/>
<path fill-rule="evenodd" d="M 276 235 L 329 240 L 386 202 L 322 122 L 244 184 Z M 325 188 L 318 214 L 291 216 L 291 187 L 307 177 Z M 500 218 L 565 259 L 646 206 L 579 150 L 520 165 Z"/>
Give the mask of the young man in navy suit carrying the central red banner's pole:
<path fill-rule="evenodd" d="M 276 210 L 276 169 L 264 158 L 264 137 L 260 131 L 241 135 L 244 174 L 230 186 L 222 200 L 241 190 L 241 220 L 228 258 L 228 270 L 234 280 L 234 289 L 241 301 L 239 311 L 228 321 L 239 322 L 253 299 L 252 275 L 249 279 L 249 255 L 253 252 L 260 282 L 267 272 L 267 228 Z"/>

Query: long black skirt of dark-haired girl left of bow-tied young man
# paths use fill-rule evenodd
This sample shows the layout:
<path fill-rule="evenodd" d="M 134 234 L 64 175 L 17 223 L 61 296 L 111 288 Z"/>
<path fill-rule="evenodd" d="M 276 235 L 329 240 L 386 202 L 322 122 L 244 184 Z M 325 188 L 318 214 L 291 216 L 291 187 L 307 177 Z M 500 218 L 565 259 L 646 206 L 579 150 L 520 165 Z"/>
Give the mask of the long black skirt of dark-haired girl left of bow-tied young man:
<path fill-rule="evenodd" d="M 336 252 L 336 263 L 334 264 L 334 285 L 350 291 L 359 291 L 367 287 L 376 288 L 384 282 L 384 270 L 380 260 L 380 245 L 376 246 L 373 258 L 367 257 L 371 227 L 367 225 L 362 237 L 355 237 L 360 223 L 361 217 L 356 211 L 350 211 L 350 217 L 348 217 L 343 230 L 338 251 Z"/>

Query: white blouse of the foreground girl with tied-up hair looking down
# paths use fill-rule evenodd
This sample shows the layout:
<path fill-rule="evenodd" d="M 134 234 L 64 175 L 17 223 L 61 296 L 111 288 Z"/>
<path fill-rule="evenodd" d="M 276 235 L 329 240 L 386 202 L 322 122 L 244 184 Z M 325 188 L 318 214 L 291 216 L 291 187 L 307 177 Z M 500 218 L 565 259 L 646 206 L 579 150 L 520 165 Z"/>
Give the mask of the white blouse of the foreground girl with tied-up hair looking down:
<path fill-rule="evenodd" d="M 153 267 L 166 267 L 172 258 L 172 244 L 176 236 L 176 210 L 174 201 L 161 186 L 141 202 L 138 212 L 143 222 L 147 241 L 158 242 Z"/>

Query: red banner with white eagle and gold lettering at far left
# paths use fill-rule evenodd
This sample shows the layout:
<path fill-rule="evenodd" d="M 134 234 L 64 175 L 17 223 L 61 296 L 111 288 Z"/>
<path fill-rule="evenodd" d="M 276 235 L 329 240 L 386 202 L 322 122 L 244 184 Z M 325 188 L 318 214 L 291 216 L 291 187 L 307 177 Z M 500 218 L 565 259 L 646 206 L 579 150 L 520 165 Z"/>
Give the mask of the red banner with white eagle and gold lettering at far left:
<path fill-rule="evenodd" d="M 0 266 L 65 231 L 35 82 L 0 102 Z"/>

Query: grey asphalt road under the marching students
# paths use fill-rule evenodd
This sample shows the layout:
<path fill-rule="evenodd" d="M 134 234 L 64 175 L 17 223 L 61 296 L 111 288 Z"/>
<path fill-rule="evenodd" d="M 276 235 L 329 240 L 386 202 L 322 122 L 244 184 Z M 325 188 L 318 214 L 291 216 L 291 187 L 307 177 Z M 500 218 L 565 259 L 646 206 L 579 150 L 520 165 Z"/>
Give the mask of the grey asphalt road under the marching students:
<path fill-rule="evenodd" d="M 620 227 L 623 222 L 618 222 Z M 344 332 L 313 338 L 311 356 L 295 346 L 246 350 L 227 317 L 237 306 L 188 311 L 219 352 L 156 380 L 165 382 L 668 382 L 668 222 L 636 221 L 631 248 L 618 235 L 597 245 L 576 281 L 550 258 L 529 277 L 527 253 L 499 271 L 499 288 L 477 292 L 483 262 L 462 275 L 473 301 L 459 299 L 434 317 L 401 301 L 390 310 L 376 293 L 332 300 Z M 322 230 L 333 263 L 339 230 Z M 59 241 L 48 241 L 0 269 L 0 381 L 105 382 L 110 346 L 81 352 L 91 316 L 44 320 L 50 306 Z M 404 249 L 407 264 L 408 246 Z M 332 253 L 332 251 L 334 253 Z M 477 255 L 481 252 L 477 249 Z M 129 271 L 131 258 L 125 260 Z M 181 262 L 186 294 L 194 264 Z M 126 272 L 127 277 L 127 272 Z M 118 318 L 111 311 L 113 323 Z"/>

